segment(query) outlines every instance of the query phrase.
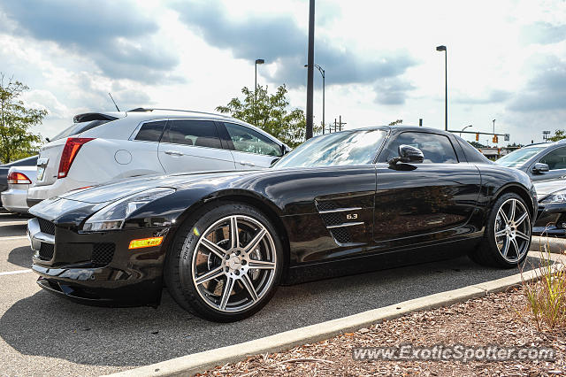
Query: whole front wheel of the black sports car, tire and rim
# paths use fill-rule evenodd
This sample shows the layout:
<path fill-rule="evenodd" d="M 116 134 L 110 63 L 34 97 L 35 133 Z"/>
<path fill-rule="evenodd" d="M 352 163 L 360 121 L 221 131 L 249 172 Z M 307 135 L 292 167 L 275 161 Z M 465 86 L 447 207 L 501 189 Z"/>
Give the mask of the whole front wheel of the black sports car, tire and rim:
<path fill-rule="evenodd" d="M 187 220 L 165 261 L 165 282 L 181 307 L 218 322 L 247 318 L 271 299 L 283 270 L 275 227 L 248 204 L 207 207 Z"/>

